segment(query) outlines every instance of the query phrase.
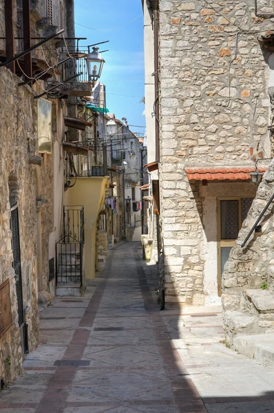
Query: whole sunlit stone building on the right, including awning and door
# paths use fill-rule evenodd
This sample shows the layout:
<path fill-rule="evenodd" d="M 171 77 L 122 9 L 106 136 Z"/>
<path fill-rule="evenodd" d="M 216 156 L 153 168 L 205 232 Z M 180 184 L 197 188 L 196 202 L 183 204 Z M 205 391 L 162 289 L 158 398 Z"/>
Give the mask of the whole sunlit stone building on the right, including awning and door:
<path fill-rule="evenodd" d="M 143 1 L 148 168 L 156 204 L 160 187 L 167 303 L 220 302 L 224 264 L 257 191 L 254 161 L 264 158 L 264 171 L 273 156 L 274 12 L 270 1 L 255 5 Z"/>

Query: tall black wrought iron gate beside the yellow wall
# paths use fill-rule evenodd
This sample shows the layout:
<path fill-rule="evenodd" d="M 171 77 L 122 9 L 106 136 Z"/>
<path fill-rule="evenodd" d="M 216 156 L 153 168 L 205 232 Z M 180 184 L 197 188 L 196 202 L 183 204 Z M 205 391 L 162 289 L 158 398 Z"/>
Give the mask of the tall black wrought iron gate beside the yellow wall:
<path fill-rule="evenodd" d="M 63 207 L 63 229 L 56 242 L 56 285 L 83 284 L 84 207 Z"/>

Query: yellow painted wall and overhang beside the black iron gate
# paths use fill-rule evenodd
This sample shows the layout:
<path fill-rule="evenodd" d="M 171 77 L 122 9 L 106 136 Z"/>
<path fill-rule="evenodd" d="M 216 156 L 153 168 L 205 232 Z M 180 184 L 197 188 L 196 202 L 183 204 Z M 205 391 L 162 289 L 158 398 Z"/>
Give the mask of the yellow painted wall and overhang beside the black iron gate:
<path fill-rule="evenodd" d="M 64 205 L 83 205 L 85 209 L 84 277 L 95 277 L 96 224 L 105 202 L 107 177 L 77 178 L 74 187 L 65 191 Z"/>

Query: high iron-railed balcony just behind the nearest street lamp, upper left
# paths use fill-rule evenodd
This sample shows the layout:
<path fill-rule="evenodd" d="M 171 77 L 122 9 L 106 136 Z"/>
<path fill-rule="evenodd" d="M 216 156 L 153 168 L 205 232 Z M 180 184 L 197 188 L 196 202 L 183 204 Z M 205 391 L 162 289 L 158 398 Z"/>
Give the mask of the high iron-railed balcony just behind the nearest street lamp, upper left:
<path fill-rule="evenodd" d="M 65 53 L 65 50 L 63 50 Z M 87 54 L 87 51 L 78 52 L 80 56 Z M 73 55 L 73 54 L 72 54 Z M 81 76 L 72 79 L 72 81 L 67 82 L 70 78 L 75 76 L 77 73 L 82 73 Z M 67 88 L 67 96 L 91 96 L 92 95 L 92 82 L 89 81 L 89 76 L 87 72 L 87 62 L 85 57 L 73 57 L 70 61 L 65 62 L 62 65 L 62 81 L 67 82 L 69 85 Z"/>

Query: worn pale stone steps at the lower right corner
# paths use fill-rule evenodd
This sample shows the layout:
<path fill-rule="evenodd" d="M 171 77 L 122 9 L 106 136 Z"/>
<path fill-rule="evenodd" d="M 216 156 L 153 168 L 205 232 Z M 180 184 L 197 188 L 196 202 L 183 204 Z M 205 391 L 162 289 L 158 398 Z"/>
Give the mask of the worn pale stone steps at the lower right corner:
<path fill-rule="evenodd" d="M 238 296 L 238 304 L 238 310 L 224 311 L 228 344 L 246 357 L 274 366 L 274 293 L 247 289 Z"/>

